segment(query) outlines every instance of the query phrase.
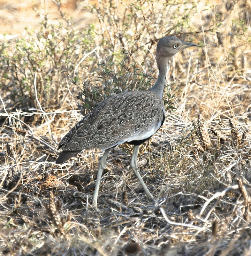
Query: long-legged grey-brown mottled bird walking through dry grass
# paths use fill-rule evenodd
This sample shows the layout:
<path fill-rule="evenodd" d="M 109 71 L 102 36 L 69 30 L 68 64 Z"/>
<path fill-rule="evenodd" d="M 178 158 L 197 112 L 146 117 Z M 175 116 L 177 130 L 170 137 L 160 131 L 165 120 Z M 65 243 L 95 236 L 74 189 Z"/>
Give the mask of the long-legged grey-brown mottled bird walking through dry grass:
<path fill-rule="evenodd" d="M 92 202 L 95 207 L 97 207 L 102 172 L 105 169 L 110 149 L 123 143 L 134 145 L 130 168 L 136 174 L 146 195 L 154 200 L 138 171 L 139 147 L 159 130 L 165 120 L 162 97 L 166 73 L 170 68 L 168 62 L 180 50 L 191 46 L 196 46 L 196 44 L 184 42 L 174 36 L 160 38 L 156 46 L 159 74 L 154 86 L 148 90 L 119 93 L 103 100 L 59 143 L 58 150 L 62 149 L 62 151 L 56 160 L 57 164 L 67 161 L 83 149 L 105 150 L 98 163 Z"/>

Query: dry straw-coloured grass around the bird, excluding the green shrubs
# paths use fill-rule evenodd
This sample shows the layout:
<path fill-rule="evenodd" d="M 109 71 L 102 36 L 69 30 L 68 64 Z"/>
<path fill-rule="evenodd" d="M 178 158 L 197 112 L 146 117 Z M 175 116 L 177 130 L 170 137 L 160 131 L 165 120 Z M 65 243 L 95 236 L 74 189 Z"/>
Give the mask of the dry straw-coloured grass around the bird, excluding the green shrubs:
<path fill-rule="evenodd" d="M 156 9 L 152 10 L 149 6 L 144 7 L 148 8 L 144 9 L 146 13 L 153 10 L 164 19 L 164 15 L 178 8 L 178 4 L 173 4 L 166 13 L 162 5 L 153 4 L 151 8 Z M 180 12 L 184 6 L 180 6 Z M 59 95 L 64 94 L 63 99 L 58 98 L 62 99 L 60 107 L 45 107 L 45 102 L 39 108 L 39 98 L 35 98 L 38 107 L 32 111 L 15 109 L 5 100 L 8 89 L 13 87 L 1 87 L 3 255 L 251 254 L 251 29 L 247 15 L 251 15 L 251 4 L 235 1 L 224 6 L 205 8 L 201 2 L 195 5 L 190 16 L 191 35 L 199 44 L 202 42 L 202 47 L 175 57 L 175 70 L 171 70 L 169 78 L 172 97 L 165 100 L 177 110 L 166 118 L 151 144 L 142 146 L 140 173 L 156 202 L 146 198 L 127 168 L 132 153 L 129 146 L 114 148 L 108 157 L 98 211 L 93 209 L 91 199 L 102 152 L 86 150 L 65 164 L 55 164 L 57 143 L 81 118 L 80 111 L 75 110 L 74 83 L 57 90 Z M 143 38 L 144 29 L 153 29 L 145 18 L 146 25 L 140 32 L 130 31 L 138 41 L 124 38 L 124 49 L 133 49 L 134 43 L 141 47 L 138 42 L 143 40 L 150 41 L 144 47 L 153 52 L 154 38 L 166 33 L 175 35 L 175 29 L 179 29 L 170 25 L 164 30 L 163 25 L 151 38 Z M 148 19 L 150 22 L 151 17 Z M 119 49 L 121 41 L 115 35 L 123 24 L 110 22 L 114 30 L 108 33 L 103 27 L 100 33 L 108 48 L 110 42 Z M 179 35 L 188 35 L 189 31 L 183 27 Z M 98 52 L 102 63 L 106 63 L 105 47 L 101 45 Z M 135 50 L 130 63 L 137 62 L 138 69 L 156 77 L 156 70 L 148 68 L 155 65 L 154 59 L 143 49 Z M 90 79 L 88 88 L 99 88 L 101 96 L 97 100 L 102 100 L 113 92 L 114 84 L 108 79 L 113 75 L 109 73 L 106 84 L 105 79 L 95 82 L 104 74 L 93 56 L 85 60 L 92 66 L 82 73 L 79 70 L 80 80 Z M 133 74 L 130 67 L 127 71 Z M 5 81 L 3 73 L 1 76 Z M 132 75 L 129 79 L 133 89 L 138 88 L 134 78 Z M 128 80 L 119 81 L 125 81 L 121 84 L 126 87 Z M 146 87 L 147 83 L 148 80 L 141 82 L 139 87 Z M 111 91 L 102 91 L 103 84 Z"/>

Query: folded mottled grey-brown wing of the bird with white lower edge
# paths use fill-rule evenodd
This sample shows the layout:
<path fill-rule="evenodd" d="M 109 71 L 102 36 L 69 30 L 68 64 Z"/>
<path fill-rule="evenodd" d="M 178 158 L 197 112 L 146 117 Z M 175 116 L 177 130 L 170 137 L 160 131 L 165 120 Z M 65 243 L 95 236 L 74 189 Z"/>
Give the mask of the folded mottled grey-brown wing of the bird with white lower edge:
<path fill-rule="evenodd" d="M 154 92 L 113 95 L 77 123 L 58 148 L 79 152 L 85 148 L 107 149 L 146 139 L 160 128 L 164 116 L 164 103 Z"/>

